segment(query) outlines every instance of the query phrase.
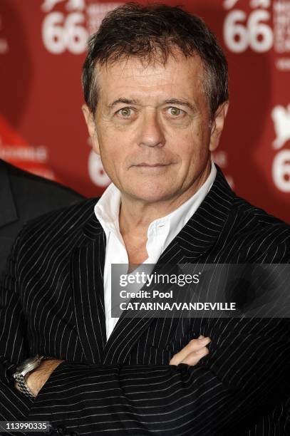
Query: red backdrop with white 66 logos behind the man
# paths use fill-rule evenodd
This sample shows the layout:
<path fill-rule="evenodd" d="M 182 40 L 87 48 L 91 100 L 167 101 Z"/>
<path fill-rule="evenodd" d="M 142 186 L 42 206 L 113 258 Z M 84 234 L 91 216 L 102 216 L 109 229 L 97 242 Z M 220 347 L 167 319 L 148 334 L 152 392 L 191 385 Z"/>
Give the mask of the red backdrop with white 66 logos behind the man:
<path fill-rule="evenodd" d="M 164 1 L 180 4 L 180 1 Z M 195 0 L 229 61 L 214 159 L 237 194 L 290 222 L 290 0 Z M 81 113 L 86 40 L 118 3 L 1 0 L 0 157 L 87 196 L 108 185 Z"/>

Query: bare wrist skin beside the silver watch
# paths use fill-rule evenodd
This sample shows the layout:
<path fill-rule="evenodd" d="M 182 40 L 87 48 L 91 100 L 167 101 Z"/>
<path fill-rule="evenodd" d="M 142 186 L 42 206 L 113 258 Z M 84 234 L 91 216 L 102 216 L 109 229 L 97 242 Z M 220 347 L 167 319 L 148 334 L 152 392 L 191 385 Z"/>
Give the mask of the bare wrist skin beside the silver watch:
<path fill-rule="evenodd" d="M 63 362 L 63 360 L 42 360 L 38 368 L 31 371 L 31 373 L 29 373 L 29 375 L 26 377 L 26 385 L 29 387 L 29 390 L 35 397 L 43 387 L 44 383 L 46 383 L 46 380 L 51 375 L 53 370 L 55 370 L 61 362 Z M 15 388 L 19 390 L 17 383 L 15 383 Z"/>

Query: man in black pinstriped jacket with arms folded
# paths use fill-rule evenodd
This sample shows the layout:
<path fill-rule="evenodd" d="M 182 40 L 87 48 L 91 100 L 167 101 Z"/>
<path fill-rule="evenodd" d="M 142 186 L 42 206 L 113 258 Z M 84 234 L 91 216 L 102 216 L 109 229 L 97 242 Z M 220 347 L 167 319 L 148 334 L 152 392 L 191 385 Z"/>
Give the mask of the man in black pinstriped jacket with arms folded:
<path fill-rule="evenodd" d="M 228 107 L 216 39 L 180 8 L 121 6 L 90 39 L 83 87 L 113 185 L 19 235 L 1 291 L 2 419 L 70 435 L 286 435 L 286 319 L 110 317 L 114 263 L 289 262 L 289 227 L 211 162 Z"/>

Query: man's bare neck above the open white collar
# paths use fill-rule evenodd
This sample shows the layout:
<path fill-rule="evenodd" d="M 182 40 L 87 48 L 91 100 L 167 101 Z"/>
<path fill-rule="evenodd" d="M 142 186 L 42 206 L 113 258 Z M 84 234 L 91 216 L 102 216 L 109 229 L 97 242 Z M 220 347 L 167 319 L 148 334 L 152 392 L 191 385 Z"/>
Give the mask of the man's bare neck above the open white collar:
<path fill-rule="evenodd" d="M 210 167 L 211 163 L 209 162 L 209 165 L 207 165 L 204 172 L 202 172 L 198 180 L 195 180 L 192 186 L 171 199 L 148 203 L 122 194 L 119 227 L 123 237 L 128 234 L 140 238 L 147 237 L 147 229 L 152 221 L 173 212 L 202 187 L 209 176 Z"/>

